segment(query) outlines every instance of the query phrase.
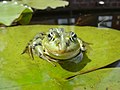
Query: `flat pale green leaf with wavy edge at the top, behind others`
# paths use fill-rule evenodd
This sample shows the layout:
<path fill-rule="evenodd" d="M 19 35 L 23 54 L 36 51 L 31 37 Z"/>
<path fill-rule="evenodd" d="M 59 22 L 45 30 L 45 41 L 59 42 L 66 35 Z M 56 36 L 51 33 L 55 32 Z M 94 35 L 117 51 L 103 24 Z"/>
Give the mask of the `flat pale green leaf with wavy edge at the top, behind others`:
<path fill-rule="evenodd" d="M 47 7 L 57 8 L 67 6 L 69 3 L 63 0 L 22 0 L 24 4 L 27 4 L 36 9 L 46 9 Z"/>

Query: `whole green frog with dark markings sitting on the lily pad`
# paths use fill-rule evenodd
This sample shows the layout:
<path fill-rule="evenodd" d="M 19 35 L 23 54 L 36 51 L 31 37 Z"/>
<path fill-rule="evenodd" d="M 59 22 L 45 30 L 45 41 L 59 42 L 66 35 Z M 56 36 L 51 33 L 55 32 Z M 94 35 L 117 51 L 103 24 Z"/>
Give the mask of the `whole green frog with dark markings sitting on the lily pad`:
<path fill-rule="evenodd" d="M 81 61 L 85 51 L 84 41 L 75 32 L 67 32 L 64 28 L 50 28 L 48 32 L 36 34 L 22 54 L 28 53 L 32 59 L 37 55 L 53 64 L 52 62 L 76 61 L 76 57 Z"/>

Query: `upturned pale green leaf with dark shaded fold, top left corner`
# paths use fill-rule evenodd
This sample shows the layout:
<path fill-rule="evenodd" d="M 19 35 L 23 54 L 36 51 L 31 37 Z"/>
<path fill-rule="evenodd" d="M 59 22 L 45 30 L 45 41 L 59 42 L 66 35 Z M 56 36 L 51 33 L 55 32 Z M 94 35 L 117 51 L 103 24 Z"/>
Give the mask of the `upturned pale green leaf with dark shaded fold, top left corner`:
<path fill-rule="evenodd" d="M 6 26 L 17 21 L 28 24 L 32 17 L 32 9 L 17 2 L 0 2 L 0 12 L 0 23 Z"/>

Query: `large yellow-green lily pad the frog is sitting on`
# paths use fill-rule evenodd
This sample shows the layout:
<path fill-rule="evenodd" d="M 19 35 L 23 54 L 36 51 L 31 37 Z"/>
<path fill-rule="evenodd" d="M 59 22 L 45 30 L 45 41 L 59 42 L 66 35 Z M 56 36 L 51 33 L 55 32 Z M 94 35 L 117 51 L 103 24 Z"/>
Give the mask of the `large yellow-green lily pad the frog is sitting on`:
<path fill-rule="evenodd" d="M 87 53 L 84 53 L 84 58 L 80 63 L 55 63 L 57 66 L 54 67 L 38 56 L 35 56 L 35 59 L 32 60 L 28 54 L 21 55 L 29 40 L 37 33 L 47 32 L 49 28 L 54 27 L 74 31 L 85 42 L 91 43 L 91 49 L 88 48 Z M 77 84 L 70 86 L 71 83 L 65 80 L 67 77 L 92 72 L 120 59 L 119 35 L 120 31 L 95 27 L 31 25 L 0 28 L 0 82 L 2 83 L 0 89 L 57 90 L 66 88 L 65 90 L 72 90 L 79 82 L 73 80 L 72 82 L 77 82 Z M 105 72 L 109 72 L 109 69 Z M 115 74 L 119 75 L 119 73 Z M 86 80 L 84 79 L 86 85 L 90 83 L 87 82 L 87 80 L 90 80 L 89 77 L 94 79 L 93 74 L 90 74 L 90 76 L 89 74 L 80 75 L 80 77 L 84 76 L 87 77 Z M 81 82 L 83 86 L 85 82 Z"/>

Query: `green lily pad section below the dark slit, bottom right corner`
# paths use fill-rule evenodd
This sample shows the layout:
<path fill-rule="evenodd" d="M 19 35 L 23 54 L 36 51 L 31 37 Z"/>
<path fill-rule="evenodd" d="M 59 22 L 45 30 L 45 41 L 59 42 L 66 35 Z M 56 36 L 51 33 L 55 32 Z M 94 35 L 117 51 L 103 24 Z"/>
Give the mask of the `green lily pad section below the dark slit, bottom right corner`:
<path fill-rule="evenodd" d="M 64 90 L 120 90 L 120 68 L 78 75 L 62 84 Z"/>

